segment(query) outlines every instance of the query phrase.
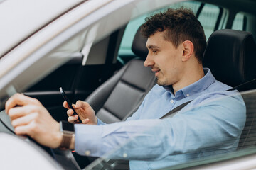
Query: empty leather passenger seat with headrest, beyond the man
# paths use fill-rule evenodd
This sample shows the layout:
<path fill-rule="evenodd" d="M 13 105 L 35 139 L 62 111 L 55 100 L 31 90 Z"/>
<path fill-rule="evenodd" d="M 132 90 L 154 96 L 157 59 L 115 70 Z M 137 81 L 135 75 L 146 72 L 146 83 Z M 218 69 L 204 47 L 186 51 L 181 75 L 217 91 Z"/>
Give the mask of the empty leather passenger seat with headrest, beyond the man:
<path fill-rule="evenodd" d="M 146 93 L 156 84 L 151 68 L 143 65 L 148 50 L 146 38 L 139 30 L 134 36 L 132 51 L 139 59 L 128 62 L 85 100 L 105 123 L 125 120 L 132 115 Z"/>

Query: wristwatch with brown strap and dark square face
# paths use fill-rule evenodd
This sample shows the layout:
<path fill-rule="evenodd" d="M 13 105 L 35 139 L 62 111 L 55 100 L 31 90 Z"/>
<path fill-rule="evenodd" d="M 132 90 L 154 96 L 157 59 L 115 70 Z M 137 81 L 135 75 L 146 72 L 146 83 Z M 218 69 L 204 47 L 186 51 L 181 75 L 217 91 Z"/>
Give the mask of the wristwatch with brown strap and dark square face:
<path fill-rule="evenodd" d="M 70 149 L 72 137 L 75 137 L 74 124 L 68 123 L 67 121 L 60 121 L 60 132 L 63 136 L 60 149 Z"/>

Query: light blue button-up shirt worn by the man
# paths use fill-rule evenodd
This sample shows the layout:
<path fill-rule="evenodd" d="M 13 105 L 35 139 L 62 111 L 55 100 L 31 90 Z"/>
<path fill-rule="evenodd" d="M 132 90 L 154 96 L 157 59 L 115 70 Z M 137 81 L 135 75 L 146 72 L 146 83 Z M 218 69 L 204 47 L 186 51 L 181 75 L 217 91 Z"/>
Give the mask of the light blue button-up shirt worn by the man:
<path fill-rule="evenodd" d="M 126 122 L 75 125 L 78 154 L 129 159 L 130 169 L 166 166 L 233 152 L 245 125 L 245 103 L 236 91 L 216 81 L 209 69 L 195 83 L 172 94 L 157 84 Z M 159 120 L 191 101 L 173 118 Z"/>

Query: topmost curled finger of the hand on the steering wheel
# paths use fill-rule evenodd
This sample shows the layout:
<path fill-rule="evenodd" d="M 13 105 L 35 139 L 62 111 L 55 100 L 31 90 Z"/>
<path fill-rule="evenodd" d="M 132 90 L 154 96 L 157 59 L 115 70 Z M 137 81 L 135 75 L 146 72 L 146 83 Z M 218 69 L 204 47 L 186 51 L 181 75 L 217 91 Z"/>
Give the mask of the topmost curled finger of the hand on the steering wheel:
<path fill-rule="evenodd" d="M 14 94 L 14 96 L 11 96 L 8 101 L 6 101 L 6 113 L 9 113 L 10 108 L 14 108 L 15 106 L 25 106 L 28 104 L 35 104 L 38 105 L 40 103 L 36 98 L 31 98 L 28 96 L 25 96 L 23 94 Z"/>

